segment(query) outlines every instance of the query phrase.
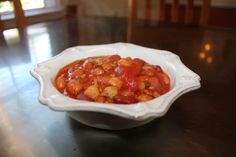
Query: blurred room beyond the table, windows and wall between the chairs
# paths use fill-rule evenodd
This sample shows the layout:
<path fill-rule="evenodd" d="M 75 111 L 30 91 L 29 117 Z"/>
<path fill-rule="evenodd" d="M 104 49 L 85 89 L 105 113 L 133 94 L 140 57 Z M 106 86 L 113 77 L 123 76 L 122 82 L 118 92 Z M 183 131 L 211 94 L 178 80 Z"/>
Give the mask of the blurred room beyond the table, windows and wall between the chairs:
<path fill-rule="evenodd" d="M 14 28 L 13 3 L 1 0 L 0 16 L 4 28 Z M 145 1 L 138 0 L 138 18 L 144 18 Z M 108 16 L 127 17 L 128 0 L 21 0 L 22 8 L 28 19 L 28 24 L 64 18 L 70 14 L 73 16 Z M 158 0 L 151 1 L 152 20 L 158 17 Z M 172 0 L 166 0 L 166 16 L 170 14 Z M 187 0 L 179 0 L 180 19 L 183 17 L 184 5 Z M 195 15 L 200 12 L 202 0 L 195 0 Z M 209 10 L 209 26 L 236 28 L 236 1 L 235 0 L 212 0 Z"/>

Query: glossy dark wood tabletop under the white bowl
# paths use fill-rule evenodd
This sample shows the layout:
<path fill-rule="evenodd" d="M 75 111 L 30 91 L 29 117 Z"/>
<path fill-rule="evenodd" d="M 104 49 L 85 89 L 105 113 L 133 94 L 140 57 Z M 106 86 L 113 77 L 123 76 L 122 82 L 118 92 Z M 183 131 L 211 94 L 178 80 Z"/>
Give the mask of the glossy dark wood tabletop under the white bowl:
<path fill-rule="evenodd" d="M 236 30 L 71 18 L 0 35 L 1 157 L 235 157 Z M 33 65 L 76 45 L 129 42 L 169 50 L 201 76 L 167 114 L 121 131 L 94 129 L 38 102 Z M 135 53 L 135 52 L 134 52 Z"/>

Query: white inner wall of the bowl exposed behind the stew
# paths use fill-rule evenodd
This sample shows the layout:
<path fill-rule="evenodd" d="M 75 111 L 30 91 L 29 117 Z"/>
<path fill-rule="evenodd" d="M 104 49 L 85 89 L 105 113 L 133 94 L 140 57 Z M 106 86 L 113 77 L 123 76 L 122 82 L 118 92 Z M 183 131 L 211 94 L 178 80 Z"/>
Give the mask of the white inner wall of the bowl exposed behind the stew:
<path fill-rule="evenodd" d="M 140 58 L 146 61 L 147 63 L 161 66 L 161 68 L 170 77 L 171 89 L 175 87 L 175 84 L 176 84 L 175 67 L 171 62 L 168 62 L 166 60 L 166 56 L 158 55 L 157 54 L 158 52 L 153 52 L 153 51 L 146 52 L 147 50 L 130 51 L 127 49 L 116 50 L 114 48 L 99 48 L 99 49 L 87 50 L 86 52 L 81 52 L 81 51 L 83 50 L 80 50 L 80 48 L 74 48 L 73 51 L 71 51 L 69 55 L 64 55 L 63 57 L 58 56 L 56 57 L 57 62 L 54 62 L 53 64 L 49 64 L 51 66 L 49 77 L 52 83 L 54 82 L 54 78 L 57 72 L 59 71 L 59 69 L 61 69 L 62 67 L 64 67 L 65 65 L 73 61 L 84 59 L 87 57 L 118 54 L 121 57 Z"/>

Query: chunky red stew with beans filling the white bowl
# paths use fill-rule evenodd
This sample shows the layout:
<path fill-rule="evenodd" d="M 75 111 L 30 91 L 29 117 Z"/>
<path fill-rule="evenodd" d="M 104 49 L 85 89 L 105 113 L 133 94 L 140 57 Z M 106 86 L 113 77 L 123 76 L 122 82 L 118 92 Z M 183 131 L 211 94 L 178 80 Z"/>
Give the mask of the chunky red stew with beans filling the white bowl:
<path fill-rule="evenodd" d="M 79 100 L 132 104 L 170 90 L 170 79 L 158 65 L 119 55 L 89 57 L 61 68 L 56 88 Z"/>

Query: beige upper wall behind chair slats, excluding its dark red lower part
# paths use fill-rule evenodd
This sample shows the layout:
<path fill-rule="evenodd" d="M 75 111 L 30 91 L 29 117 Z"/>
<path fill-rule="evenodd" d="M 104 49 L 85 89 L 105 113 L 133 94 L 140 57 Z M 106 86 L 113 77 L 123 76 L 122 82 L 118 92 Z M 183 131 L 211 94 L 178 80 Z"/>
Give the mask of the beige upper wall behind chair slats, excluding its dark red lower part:
<path fill-rule="evenodd" d="M 170 3 L 172 0 L 167 0 Z M 128 0 L 72 0 L 71 4 L 79 6 L 80 15 L 96 15 L 96 16 L 127 16 Z M 140 14 L 144 0 L 138 0 Z M 157 0 L 152 0 L 155 10 Z M 181 4 L 186 3 L 186 0 L 180 0 Z M 195 0 L 196 4 L 202 3 L 202 0 Z M 212 0 L 212 7 L 217 8 L 236 8 L 236 0 Z"/>

